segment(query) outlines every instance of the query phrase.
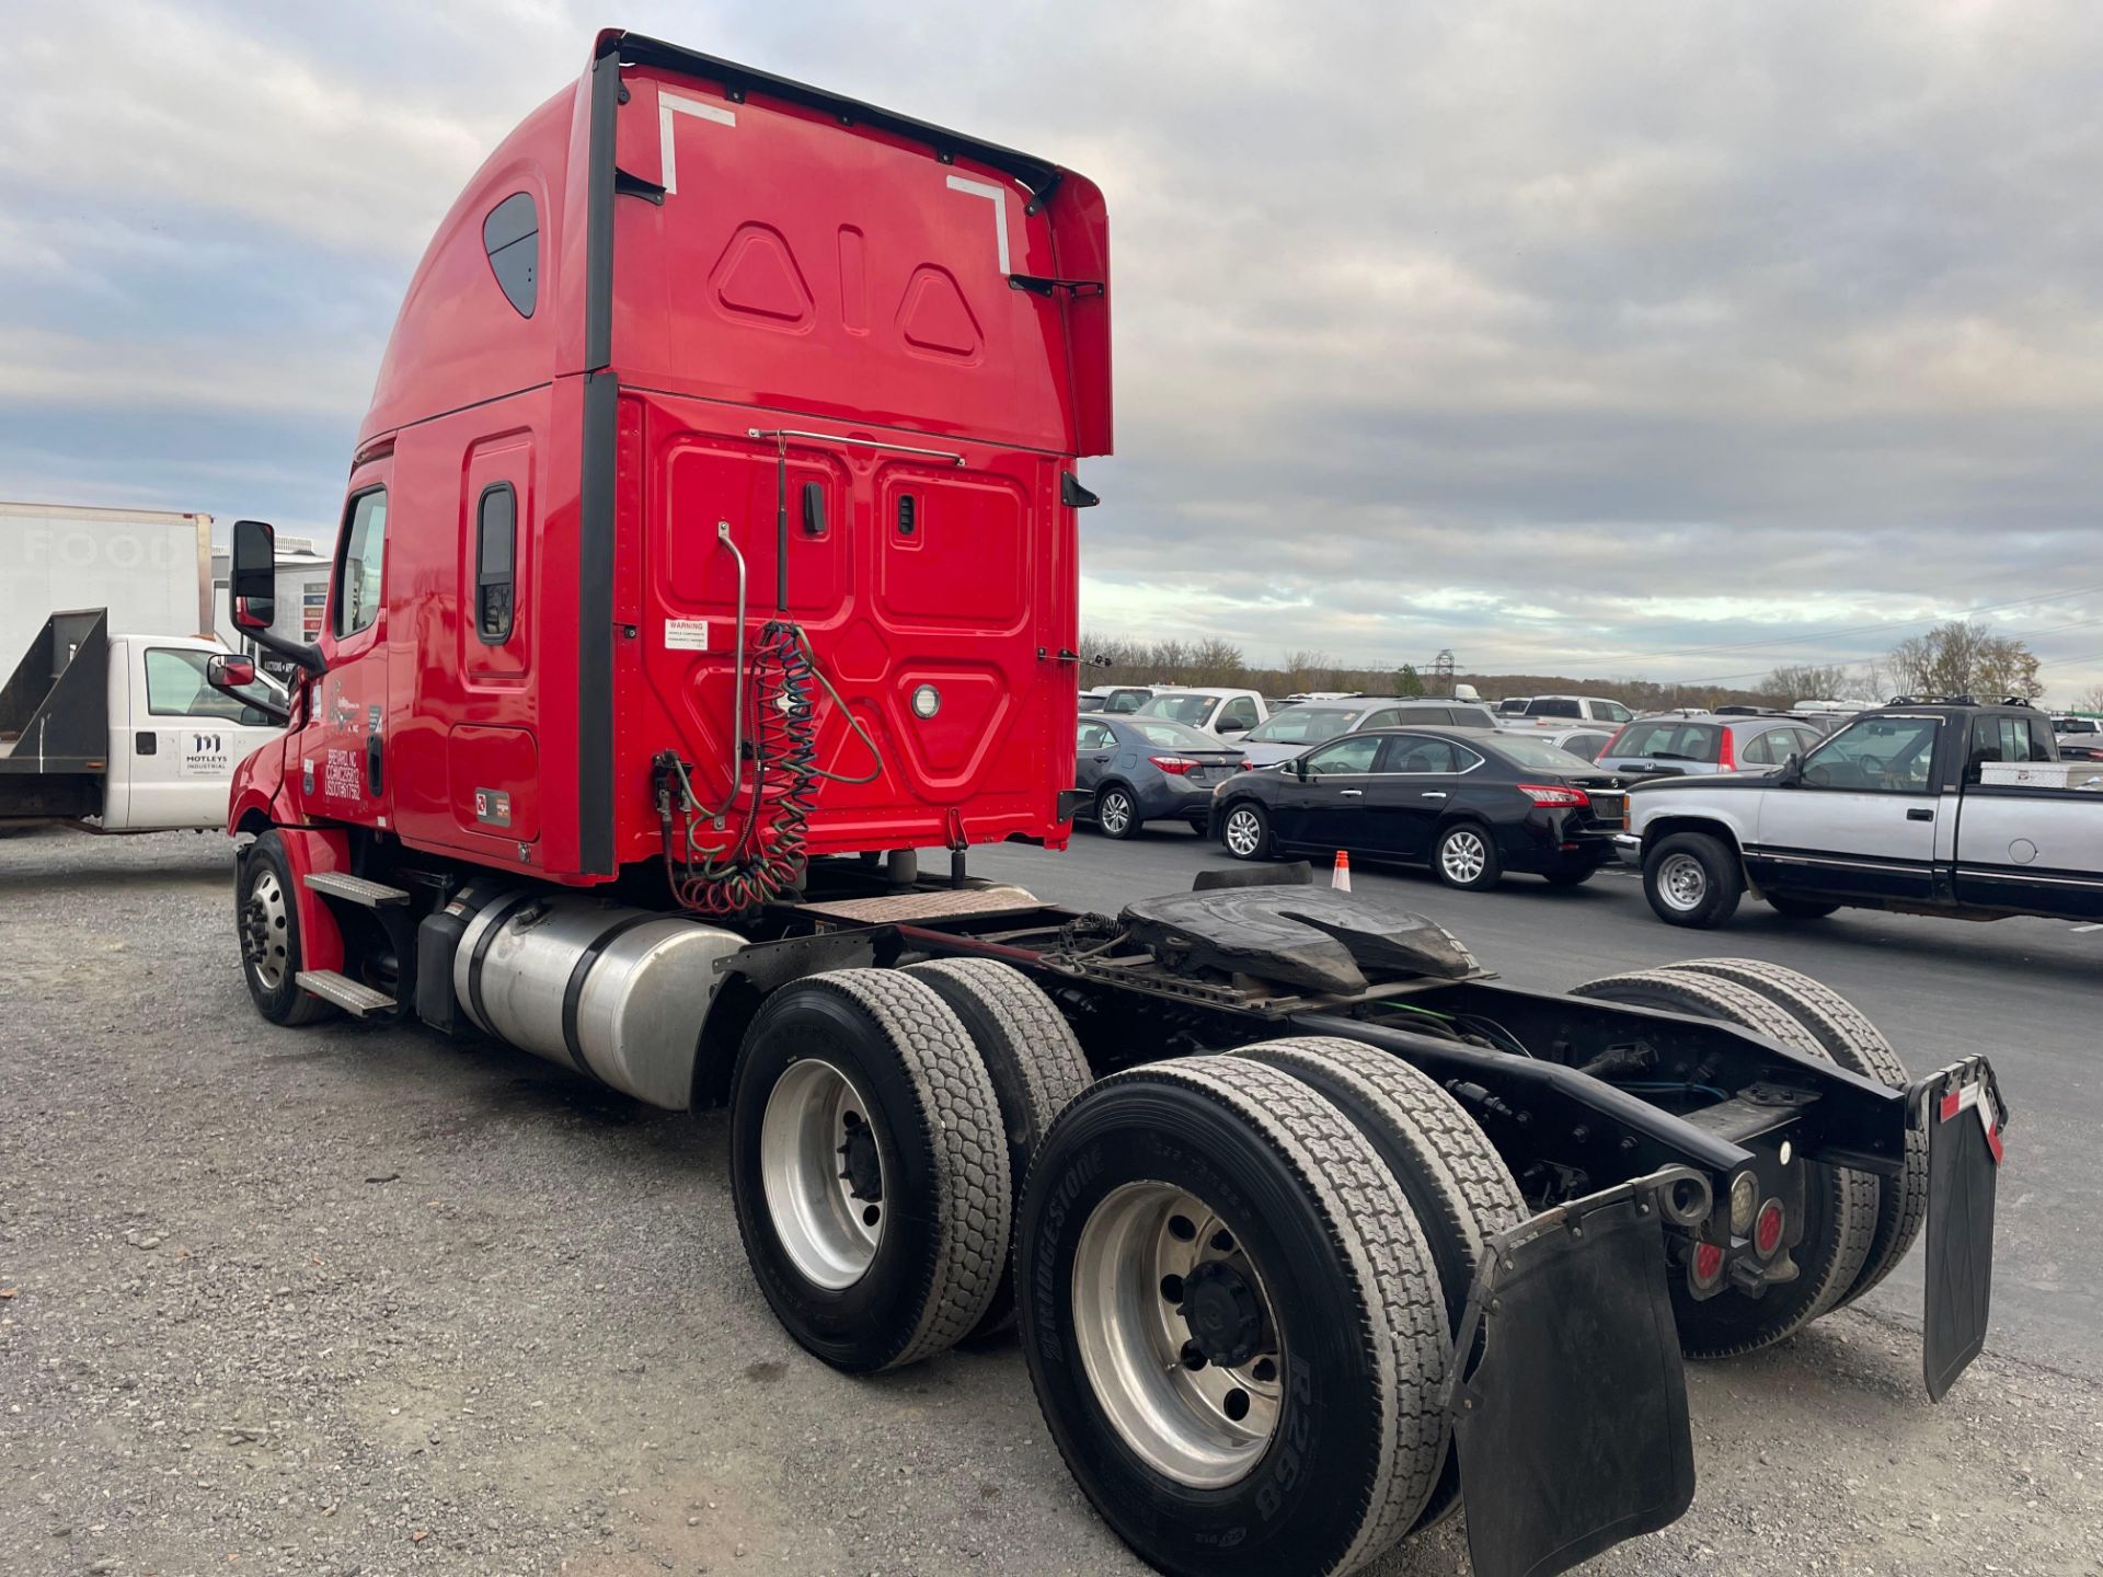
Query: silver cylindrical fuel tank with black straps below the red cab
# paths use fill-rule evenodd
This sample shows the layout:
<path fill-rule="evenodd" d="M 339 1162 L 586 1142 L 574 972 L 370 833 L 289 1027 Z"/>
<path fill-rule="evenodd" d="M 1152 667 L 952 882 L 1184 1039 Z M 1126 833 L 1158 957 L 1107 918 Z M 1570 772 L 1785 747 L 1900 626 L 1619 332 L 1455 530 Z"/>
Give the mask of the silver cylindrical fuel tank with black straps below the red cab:
<path fill-rule="evenodd" d="M 683 1110 L 717 961 L 742 946 L 679 915 L 507 894 L 469 921 L 452 988 L 496 1039 Z"/>

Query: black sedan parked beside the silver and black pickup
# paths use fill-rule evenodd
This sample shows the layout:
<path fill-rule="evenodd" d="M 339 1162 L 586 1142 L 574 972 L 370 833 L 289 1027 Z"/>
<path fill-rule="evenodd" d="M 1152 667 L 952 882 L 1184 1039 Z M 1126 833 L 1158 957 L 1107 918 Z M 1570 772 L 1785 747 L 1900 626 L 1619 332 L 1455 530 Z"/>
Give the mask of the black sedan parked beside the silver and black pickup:
<path fill-rule="evenodd" d="M 1346 734 L 1211 797 L 1211 837 L 1237 860 L 1272 854 L 1426 864 L 1449 887 L 1506 871 L 1575 887 L 1613 858 L 1621 778 L 1525 734 L 1386 728 Z"/>

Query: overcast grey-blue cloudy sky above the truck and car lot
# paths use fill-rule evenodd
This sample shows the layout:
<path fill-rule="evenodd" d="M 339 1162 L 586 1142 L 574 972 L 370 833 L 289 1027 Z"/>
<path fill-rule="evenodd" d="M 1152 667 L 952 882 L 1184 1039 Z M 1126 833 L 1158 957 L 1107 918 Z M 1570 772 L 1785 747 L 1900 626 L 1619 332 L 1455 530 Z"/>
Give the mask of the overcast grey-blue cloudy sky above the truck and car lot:
<path fill-rule="evenodd" d="M 1091 629 L 1706 679 L 1985 610 L 2103 679 L 2092 0 L 0 0 L 0 498 L 326 536 L 610 23 L 1104 187 Z"/>

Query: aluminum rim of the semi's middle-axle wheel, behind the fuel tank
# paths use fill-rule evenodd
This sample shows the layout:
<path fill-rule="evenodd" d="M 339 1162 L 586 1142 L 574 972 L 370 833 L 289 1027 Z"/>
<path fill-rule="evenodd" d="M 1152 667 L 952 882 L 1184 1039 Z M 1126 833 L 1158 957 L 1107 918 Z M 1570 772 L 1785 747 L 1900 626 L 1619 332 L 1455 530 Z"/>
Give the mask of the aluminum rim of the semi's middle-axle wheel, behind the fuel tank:
<path fill-rule="evenodd" d="M 877 1138 L 869 1110 L 848 1074 L 805 1058 L 780 1077 L 759 1119 L 759 1180 L 774 1236 L 797 1272 L 826 1291 L 869 1274 L 883 1243 L 883 1146 L 875 1144 L 873 1192 L 858 1192 L 848 1175 L 850 1140 Z"/>

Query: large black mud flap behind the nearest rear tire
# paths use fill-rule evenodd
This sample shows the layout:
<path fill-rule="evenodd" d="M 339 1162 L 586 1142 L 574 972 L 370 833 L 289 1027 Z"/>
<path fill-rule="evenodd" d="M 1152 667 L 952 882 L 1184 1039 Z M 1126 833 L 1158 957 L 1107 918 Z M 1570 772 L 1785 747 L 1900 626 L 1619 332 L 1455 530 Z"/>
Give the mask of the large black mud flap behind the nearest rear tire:
<path fill-rule="evenodd" d="M 1481 1358 L 1449 1394 L 1476 1577 L 1567 1571 L 1693 1503 L 1663 1228 L 1708 1209 L 1668 1167 L 1489 1241 L 1455 1339 Z"/>

